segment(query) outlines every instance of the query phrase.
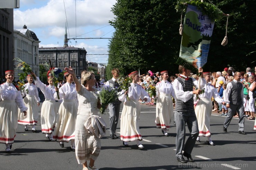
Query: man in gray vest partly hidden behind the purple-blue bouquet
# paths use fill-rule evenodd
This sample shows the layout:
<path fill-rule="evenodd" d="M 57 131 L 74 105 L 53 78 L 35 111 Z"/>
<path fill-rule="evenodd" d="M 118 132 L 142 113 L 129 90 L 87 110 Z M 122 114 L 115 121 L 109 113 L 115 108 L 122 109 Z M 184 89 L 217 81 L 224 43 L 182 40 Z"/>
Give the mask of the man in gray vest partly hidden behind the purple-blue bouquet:
<path fill-rule="evenodd" d="M 113 78 L 107 81 L 105 85 L 118 87 L 118 92 L 120 92 L 121 89 L 119 88 L 119 84 L 117 82 L 117 78 L 119 77 L 119 69 L 113 68 L 111 73 L 113 75 Z M 110 131 L 111 139 L 118 139 L 118 137 L 116 136 L 116 129 L 117 129 L 117 123 L 119 119 L 121 103 L 122 102 L 117 98 L 115 102 L 109 104 L 109 131 Z"/>

